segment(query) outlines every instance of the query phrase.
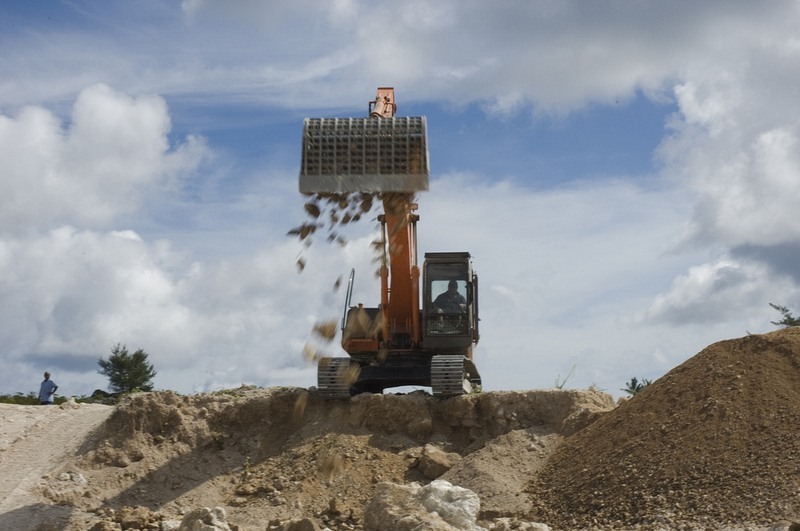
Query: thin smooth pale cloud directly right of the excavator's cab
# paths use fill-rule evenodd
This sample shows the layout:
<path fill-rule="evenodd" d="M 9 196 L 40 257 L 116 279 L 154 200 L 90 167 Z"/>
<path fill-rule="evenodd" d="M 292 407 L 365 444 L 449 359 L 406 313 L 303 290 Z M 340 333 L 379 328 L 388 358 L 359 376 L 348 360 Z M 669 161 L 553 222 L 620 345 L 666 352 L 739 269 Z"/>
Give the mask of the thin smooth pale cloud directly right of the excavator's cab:
<path fill-rule="evenodd" d="M 653 287 L 699 256 L 673 252 L 688 214 L 684 192 L 645 184 L 653 183 L 532 190 L 448 175 L 420 195 L 420 252 L 473 254 L 483 330 L 476 361 L 489 388 L 550 387 L 575 366 L 568 387 L 617 393 L 620 373 L 657 377 L 719 333 L 678 338 L 637 320 Z"/>

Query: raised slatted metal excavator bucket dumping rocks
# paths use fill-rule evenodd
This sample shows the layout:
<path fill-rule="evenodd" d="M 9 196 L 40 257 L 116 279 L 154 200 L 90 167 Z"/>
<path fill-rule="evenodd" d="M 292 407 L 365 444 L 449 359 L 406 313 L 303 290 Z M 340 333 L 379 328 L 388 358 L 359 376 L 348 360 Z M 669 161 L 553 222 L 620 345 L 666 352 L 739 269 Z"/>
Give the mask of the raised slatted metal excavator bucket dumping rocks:
<path fill-rule="evenodd" d="M 301 193 L 428 189 L 425 117 L 306 118 Z"/>

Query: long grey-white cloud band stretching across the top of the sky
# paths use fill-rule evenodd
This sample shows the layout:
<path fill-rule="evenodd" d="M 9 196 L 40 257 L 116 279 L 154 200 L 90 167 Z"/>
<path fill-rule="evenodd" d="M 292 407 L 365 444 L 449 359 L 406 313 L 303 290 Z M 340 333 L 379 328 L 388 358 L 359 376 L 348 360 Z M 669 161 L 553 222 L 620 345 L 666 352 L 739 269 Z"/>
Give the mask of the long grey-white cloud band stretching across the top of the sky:
<path fill-rule="evenodd" d="M 192 0 L 182 4 L 189 24 L 150 5 L 159 22 L 146 42 L 139 32 L 104 33 L 103 46 L 96 35 L 24 36 L 14 45 L 29 50 L 37 68 L 11 56 L 0 67 L 27 79 L 35 101 L 71 97 L 103 80 L 139 92 L 341 107 L 354 105 L 355 87 L 394 84 L 406 101 L 561 113 L 636 91 L 663 97 L 673 81 L 735 66 L 754 47 L 791 53 L 793 8 L 780 1 L 675 9 L 663 2 Z M 127 9 L 106 16 L 130 16 Z M 0 85 L 0 101 L 26 101 L 20 96 L 16 83 Z"/>

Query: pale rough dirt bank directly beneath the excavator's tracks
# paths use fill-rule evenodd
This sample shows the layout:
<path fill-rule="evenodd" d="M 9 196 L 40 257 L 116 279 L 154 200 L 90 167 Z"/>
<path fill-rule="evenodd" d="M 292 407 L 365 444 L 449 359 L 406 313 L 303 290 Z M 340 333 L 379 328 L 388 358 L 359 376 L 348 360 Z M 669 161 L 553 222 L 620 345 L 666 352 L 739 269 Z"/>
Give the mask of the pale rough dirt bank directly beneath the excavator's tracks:
<path fill-rule="evenodd" d="M 59 522 L 67 529 L 118 523 L 131 508 L 152 524 L 216 506 L 242 530 L 307 517 L 333 530 L 361 529 L 377 484 L 431 481 L 419 463 L 433 445 L 462 456 L 452 477 L 486 498 L 488 516 L 522 517 L 529 507 L 500 494 L 522 493 L 530 476 L 508 472 L 528 470 L 521 460 L 543 459 L 550 442 L 613 407 L 591 390 L 344 401 L 297 388 L 142 393 L 120 404 L 40 489 L 74 508 L 68 524 Z M 480 473 L 465 471 L 470 463 Z"/>

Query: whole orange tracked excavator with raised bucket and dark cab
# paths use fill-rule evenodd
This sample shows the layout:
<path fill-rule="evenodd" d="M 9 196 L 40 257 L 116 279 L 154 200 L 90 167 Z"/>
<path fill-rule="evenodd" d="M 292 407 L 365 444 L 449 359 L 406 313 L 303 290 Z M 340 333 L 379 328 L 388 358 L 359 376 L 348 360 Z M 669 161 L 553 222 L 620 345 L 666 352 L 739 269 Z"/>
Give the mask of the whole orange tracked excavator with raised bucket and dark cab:
<path fill-rule="evenodd" d="M 351 305 L 351 271 L 341 326 L 348 357 L 317 364 L 317 390 L 327 398 L 406 386 L 450 397 L 481 386 L 473 362 L 478 276 L 468 252 L 425 253 L 420 275 L 415 198 L 428 189 L 427 124 L 396 110 L 394 89 L 380 87 L 367 117 L 306 118 L 303 125 L 300 192 L 372 194 L 383 206 L 380 303 Z"/>

